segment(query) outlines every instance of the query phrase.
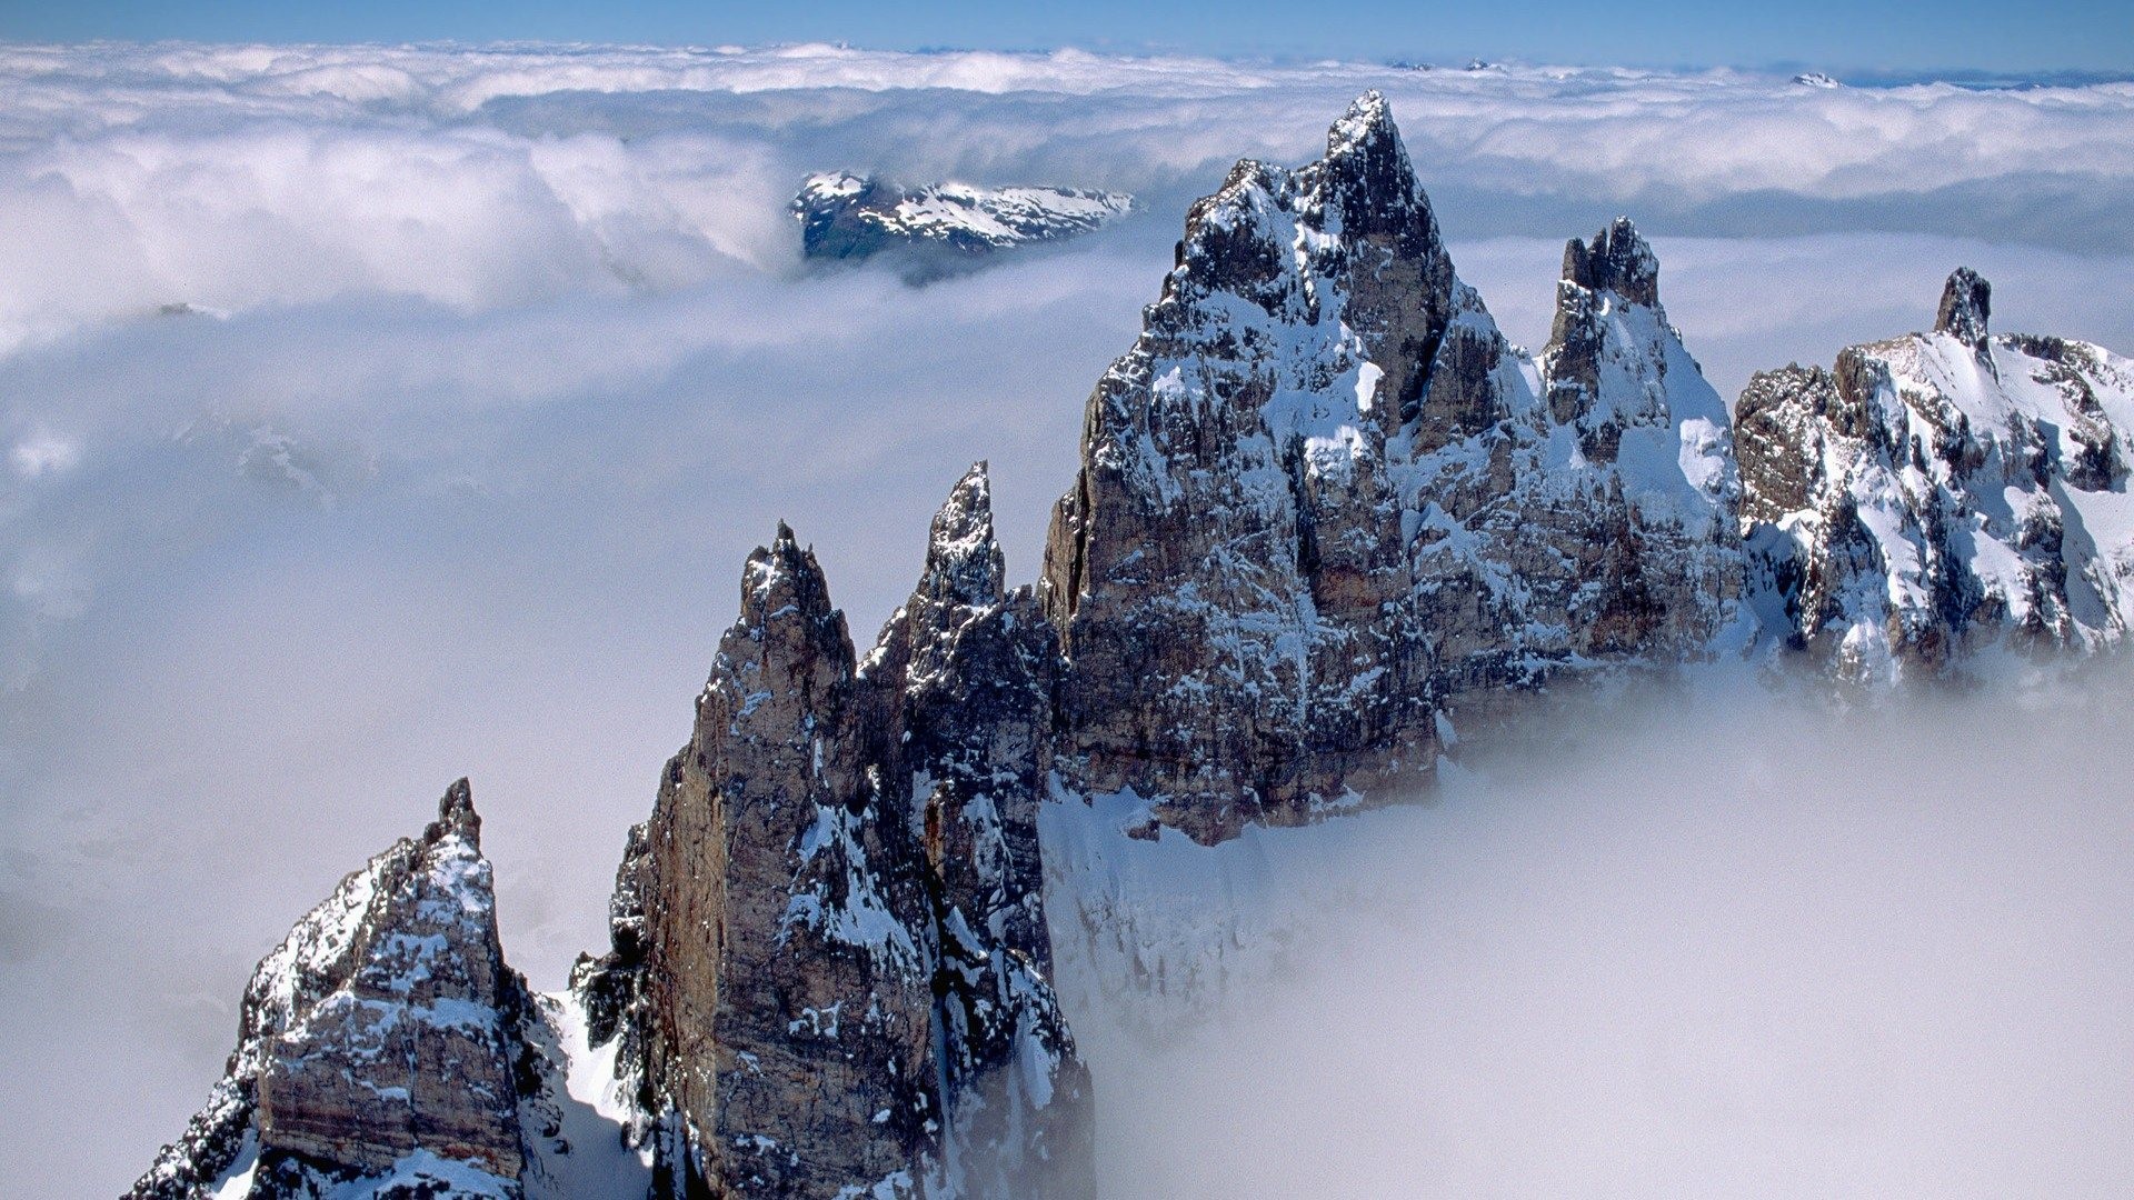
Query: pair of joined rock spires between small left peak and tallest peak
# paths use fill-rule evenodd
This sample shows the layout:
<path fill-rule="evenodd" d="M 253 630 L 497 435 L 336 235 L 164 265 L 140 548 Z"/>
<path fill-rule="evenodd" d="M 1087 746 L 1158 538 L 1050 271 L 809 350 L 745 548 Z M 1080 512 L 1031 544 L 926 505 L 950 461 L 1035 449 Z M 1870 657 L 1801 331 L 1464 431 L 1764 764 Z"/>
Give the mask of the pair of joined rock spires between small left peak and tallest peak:
<path fill-rule="evenodd" d="M 982 468 L 864 670 L 792 532 L 751 555 L 576 974 L 670 1194 L 1088 1194 L 1035 831 L 1054 641 L 1001 577 Z"/>

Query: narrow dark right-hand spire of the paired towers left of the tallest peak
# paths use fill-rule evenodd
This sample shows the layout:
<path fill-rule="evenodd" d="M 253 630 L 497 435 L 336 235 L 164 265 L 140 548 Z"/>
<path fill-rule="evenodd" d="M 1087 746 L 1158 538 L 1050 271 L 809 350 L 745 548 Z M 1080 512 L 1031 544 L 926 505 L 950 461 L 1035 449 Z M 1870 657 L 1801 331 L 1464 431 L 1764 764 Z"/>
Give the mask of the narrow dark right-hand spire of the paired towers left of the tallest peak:
<path fill-rule="evenodd" d="M 1058 634 L 1005 591 L 984 463 L 933 521 L 926 572 L 862 677 L 883 777 L 922 837 L 956 1194 L 1082 1198 L 1088 1070 L 1052 995 L 1037 807 L 1052 762 Z"/>

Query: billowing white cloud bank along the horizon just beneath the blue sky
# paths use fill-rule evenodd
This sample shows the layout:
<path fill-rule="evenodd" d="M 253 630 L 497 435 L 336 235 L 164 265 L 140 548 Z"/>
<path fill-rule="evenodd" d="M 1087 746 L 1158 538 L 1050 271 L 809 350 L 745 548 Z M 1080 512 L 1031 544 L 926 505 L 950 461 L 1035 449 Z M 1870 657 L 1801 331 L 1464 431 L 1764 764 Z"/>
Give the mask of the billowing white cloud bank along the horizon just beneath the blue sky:
<path fill-rule="evenodd" d="M 1176 199 L 1240 154 L 1308 154 L 1364 85 L 1387 90 L 1426 179 L 1460 196 L 1643 205 L 1697 233 L 1741 203 L 1946 192 L 1961 209 L 1976 188 L 2014 205 L 2102 181 L 2068 205 L 2070 228 L 2023 237 L 2093 237 L 2113 226 L 2102 205 L 2115 250 L 2134 246 L 2125 83 L 1820 90 L 837 47 L 17 47 L 0 51 L 0 220 L 19 231 L 0 258 L 0 346 L 164 303 L 491 307 L 685 286 L 723 258 L 777 269 L 792 256 L 779 201 L 813 167 Z"/>

